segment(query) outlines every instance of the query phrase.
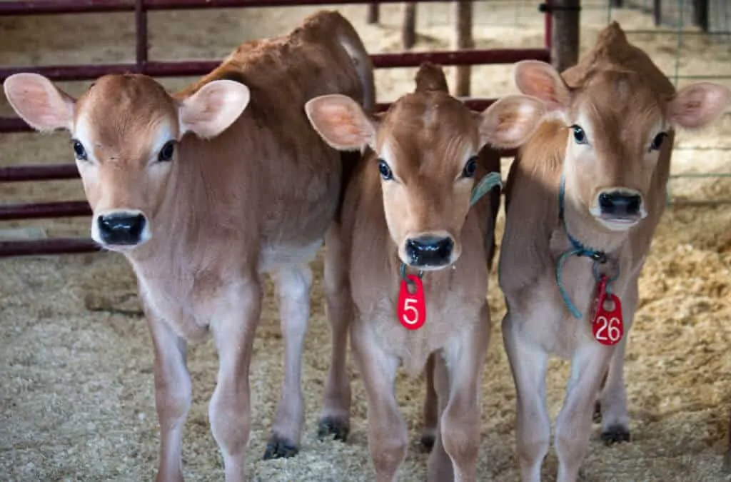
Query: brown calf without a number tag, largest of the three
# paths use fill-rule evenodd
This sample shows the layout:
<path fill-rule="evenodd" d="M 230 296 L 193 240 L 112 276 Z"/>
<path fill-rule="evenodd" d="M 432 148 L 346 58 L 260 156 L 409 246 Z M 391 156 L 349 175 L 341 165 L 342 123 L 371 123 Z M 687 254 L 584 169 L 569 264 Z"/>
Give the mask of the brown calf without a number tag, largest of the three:
<path fill-rule="evenodd" d="M 12 76 L 5 91 L 36 129 L 71 132 L 94 210 L 92 237 L 123 253 L 137 274 L 155 349 L 158 480 L 182 478 L 191 404 L 186 341 L 208 331 L 220 362 L 211 430 L 227 481 L 245 478 L 249 361 L 264 273 L 276 279 L 285 344 L 265 458 L 296 453 L 308 262 L 333 222 L 342 172 L 341 154 L 311 128 L 303 105 L 338 93 L 372 107 L 372 67 L 352 26 L 336 12 L 319 12 L 291 34 L 241 45 L 173 96 L 143 75 L 107 75 L 79 99 L 34 74 Z M 347 314 L 331 266 L 338 240 L 330 238 L 325 284 L 334 350 L 321 429 L 344 438 Z"/>

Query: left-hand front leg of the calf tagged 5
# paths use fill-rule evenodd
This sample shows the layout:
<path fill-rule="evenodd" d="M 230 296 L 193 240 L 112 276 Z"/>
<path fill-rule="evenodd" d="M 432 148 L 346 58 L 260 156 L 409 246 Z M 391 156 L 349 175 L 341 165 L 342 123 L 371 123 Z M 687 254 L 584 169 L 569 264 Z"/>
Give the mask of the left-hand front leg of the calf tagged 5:
<path fill-rule="evenodd" d="M 353 355 L 368 399 L 368 451 L 371 452 L 377 482 L 393 482 L 406 459 L 409 434 L 398 413 L 393 383 L 398 358 L 376 344 L 363 320 L 352 328 Z"/>

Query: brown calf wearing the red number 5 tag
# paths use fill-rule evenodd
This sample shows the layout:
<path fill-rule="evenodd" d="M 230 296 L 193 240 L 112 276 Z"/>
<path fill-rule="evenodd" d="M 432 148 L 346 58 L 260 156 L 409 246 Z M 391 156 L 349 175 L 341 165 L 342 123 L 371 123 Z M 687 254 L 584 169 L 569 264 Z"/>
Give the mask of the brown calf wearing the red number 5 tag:
<path fill-rule="evenodd" d="M 475 181 L 488 174 L 477 154 L 487 143 L 518 146 L 545 108 L 512 96 L 473 113 L 447 93 L 442 70 L 425 64 L 416 91 L 381 116 L 366 115 L 341 95 L 312 99 L 306 110 L 331 146 L 370 148 L 346 190 L 342 235 L 376 477 L 395 480 L 406 456 L 396 369 L 401 362 L 417 374 L 434 353 L 439 419 L 428 479 L 474 481 L 491 325 L 485 241 L 493 222 L 488 199 L 470 207 Z"/>

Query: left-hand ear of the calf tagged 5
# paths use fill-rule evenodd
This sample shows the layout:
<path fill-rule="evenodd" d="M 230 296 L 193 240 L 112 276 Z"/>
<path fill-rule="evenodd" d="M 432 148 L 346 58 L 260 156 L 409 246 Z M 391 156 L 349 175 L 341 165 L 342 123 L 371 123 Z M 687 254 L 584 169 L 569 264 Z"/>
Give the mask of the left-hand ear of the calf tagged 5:
<path fill-rule="evenodd" d="M 320 137 L 338 151 L 357 151 L 374 143 L 375 122 L 350 97 L 341 94 L 315 97 L 305 104 L 305 112 Z"/>

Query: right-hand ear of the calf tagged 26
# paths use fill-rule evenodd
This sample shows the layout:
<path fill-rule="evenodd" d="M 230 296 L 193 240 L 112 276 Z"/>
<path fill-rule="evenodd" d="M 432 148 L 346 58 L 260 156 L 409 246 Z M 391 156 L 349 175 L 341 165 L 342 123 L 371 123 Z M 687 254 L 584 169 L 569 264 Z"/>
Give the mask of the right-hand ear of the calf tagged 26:
<path fill-rule="evenodd" d="M 729 105 L 731 90 L 710 82 L 683 87 L 670 102 L 670 121 L 686 129 L 708 126 Z"/>

